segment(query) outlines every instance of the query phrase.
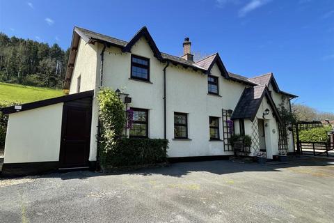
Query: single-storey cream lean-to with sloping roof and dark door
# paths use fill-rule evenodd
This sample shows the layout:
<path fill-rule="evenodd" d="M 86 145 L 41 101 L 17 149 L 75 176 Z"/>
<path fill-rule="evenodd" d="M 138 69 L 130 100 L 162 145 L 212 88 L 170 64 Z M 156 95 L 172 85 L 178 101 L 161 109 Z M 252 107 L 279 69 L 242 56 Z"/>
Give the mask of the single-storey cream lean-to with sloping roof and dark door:
<path fill-rule="evenodd" d="M 9 116 L 2 174 L 92 168 L 93 94 L 86 91 L 2 109 Z"/>

